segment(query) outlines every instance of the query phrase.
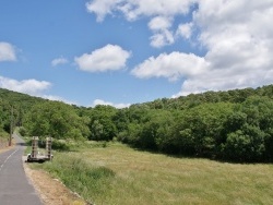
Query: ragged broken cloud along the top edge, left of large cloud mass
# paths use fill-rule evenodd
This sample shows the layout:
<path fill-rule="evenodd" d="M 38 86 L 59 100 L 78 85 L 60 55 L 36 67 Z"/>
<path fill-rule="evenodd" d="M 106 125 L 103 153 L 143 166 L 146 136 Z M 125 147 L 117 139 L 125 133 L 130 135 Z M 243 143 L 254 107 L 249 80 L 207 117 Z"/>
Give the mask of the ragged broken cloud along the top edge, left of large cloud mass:
<path fill-rule="evenodd" d="M 163 47 L 174 44 L 175 37 L 170 29 L 173 19 L 186 15 L 197 0 L 92 0 L 86 9 L 97 15 L 97 21 L 104 21 L 108 14 L 122 13 L 128 21 L 142 16 L 151 17 L 149 28 L 153 32 L 151 46 Z"/>

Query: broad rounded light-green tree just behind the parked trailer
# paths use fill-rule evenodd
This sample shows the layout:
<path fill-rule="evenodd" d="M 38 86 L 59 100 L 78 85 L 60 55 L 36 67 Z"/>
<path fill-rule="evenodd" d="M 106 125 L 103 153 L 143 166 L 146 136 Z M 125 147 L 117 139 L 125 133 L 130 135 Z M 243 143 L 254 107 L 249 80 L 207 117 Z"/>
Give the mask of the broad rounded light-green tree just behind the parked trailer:
<path fill-rule="evenodd" d="M 79 117 L 70 106 L 58 101 L 35 105 L 25 116 L 25 128 L 29 135 L 54 138 L 86 138 L 90 134 L 88 119 Z"/>

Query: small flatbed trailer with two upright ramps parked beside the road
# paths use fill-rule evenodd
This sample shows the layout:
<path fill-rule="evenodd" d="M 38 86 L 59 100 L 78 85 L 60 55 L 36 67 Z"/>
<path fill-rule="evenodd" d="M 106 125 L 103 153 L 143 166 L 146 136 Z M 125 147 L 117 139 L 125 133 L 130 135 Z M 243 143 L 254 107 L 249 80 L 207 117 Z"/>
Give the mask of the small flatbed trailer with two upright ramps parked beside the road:
<path fill-rule="evenodd" d="M 45 162 L 47 160 L 52 160 L 52 137 L 48 136 L 46 138 L 46 154 L 39 155 L 38 153 L 38 136 L 33 136 L 32 140 L 32 153 L 27 155 L 26 162 Z"/>

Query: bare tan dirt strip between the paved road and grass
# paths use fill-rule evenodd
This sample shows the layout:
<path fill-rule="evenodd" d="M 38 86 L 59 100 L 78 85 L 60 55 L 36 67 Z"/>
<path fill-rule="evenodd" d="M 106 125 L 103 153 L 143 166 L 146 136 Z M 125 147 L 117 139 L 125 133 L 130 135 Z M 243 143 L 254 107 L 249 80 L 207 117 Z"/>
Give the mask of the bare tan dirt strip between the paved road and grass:
<path fill-rule="evenodd" d="M 43 170 L 34 170 L 24 164 L 25 173 L 39 193 L 46 205 L 85 205 L 86 203 L 72 193 L 59 180 L 52 179 Z"/>

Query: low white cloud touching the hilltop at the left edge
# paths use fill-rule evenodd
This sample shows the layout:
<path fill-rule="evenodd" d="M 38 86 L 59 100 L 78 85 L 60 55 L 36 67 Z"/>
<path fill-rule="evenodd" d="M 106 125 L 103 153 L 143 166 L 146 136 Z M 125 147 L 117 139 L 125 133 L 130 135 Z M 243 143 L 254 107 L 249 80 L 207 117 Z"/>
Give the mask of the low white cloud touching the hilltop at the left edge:
<path fill-rule="evenodd" d="M 28 95 L 39 96 L 41 92 L 48 89 L 51 86 L 51 83 L 46 81 L 37 81 L 37 80 L 24 80 L 16 81 L 13 79 L 8 79 L 0 76 L 0 87 L 24 93 Z"/>

